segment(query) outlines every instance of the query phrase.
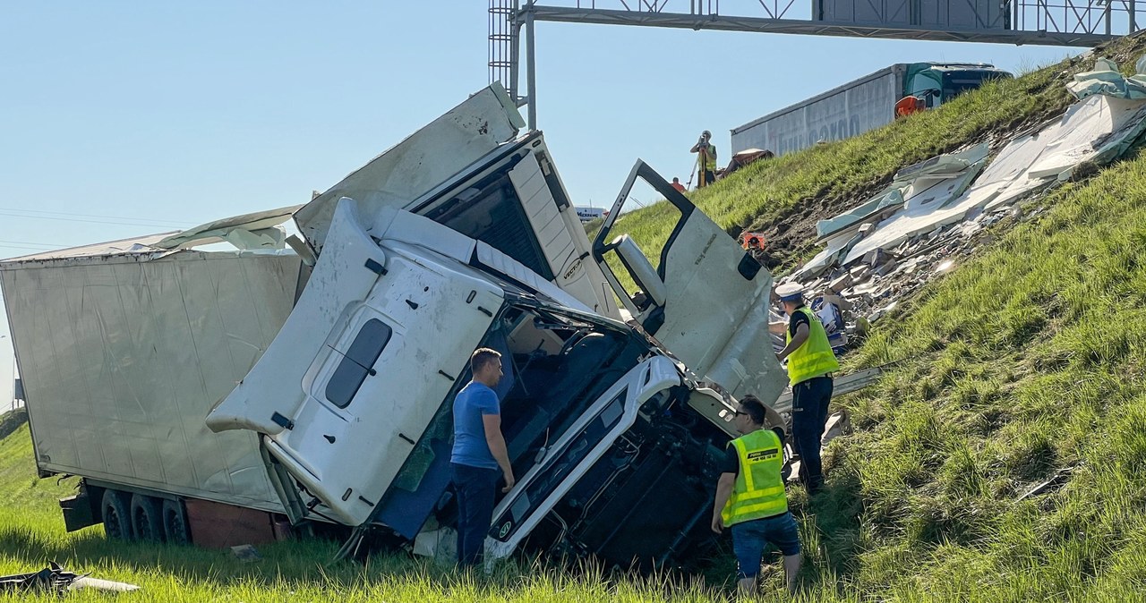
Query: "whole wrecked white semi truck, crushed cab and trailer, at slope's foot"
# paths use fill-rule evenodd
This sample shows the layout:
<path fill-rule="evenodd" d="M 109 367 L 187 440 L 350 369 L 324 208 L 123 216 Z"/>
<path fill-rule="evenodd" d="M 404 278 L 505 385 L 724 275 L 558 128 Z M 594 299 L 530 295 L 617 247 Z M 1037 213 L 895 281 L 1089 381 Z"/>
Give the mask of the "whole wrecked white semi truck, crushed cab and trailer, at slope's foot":
<path fill-rule="evenodd" d="M 521 476 L 490 558 L 706 546 L 731 404 L 784 389 L 771 276 L 639 161 L 590 245 L 519 127 L 495 86 L 301 208 L 0 262 L 37 467 L 83 477 L 68 529 L 223 546 L 319 523 L 448 555 L 450 406 L 485 346 Z M 638 178 L 677 214 L 656 268 L 614 232 Z"/>

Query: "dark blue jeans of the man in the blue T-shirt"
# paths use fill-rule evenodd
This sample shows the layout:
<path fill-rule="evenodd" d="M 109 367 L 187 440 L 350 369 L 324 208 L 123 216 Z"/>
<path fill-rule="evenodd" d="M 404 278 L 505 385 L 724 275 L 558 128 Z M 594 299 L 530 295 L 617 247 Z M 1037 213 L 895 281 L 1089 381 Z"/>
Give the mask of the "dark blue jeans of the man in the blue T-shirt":
<path fill-rule="evenodd" d="M 494 521 L 494 497 L 501 471 L 449 463 L 457 494 L 457 563 L 477 565 L 485 552 L 486 532 Z"/>

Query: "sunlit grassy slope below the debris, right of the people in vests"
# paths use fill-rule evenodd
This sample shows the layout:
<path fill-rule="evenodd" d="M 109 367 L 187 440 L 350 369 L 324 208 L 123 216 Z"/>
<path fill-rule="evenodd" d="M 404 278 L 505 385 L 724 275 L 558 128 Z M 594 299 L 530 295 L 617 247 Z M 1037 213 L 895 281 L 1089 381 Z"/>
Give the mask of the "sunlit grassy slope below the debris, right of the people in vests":
<path fill-rule="evenodd" d="M 849 362 L 902 360 L 842 400 L 858 429 L 813 507 L 857 589 L 1146 593 L 1146 157 L 1042 203 Z M 1017 500 L 1066 467 L 1062 489 Z"/>

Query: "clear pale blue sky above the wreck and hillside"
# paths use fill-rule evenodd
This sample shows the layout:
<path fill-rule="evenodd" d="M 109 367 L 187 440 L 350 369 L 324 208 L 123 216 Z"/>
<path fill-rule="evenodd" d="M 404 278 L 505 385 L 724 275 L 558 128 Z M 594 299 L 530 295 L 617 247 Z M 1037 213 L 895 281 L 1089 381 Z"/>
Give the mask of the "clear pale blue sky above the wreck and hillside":
<path fill-rule="evenodd" d="M 480 0 L 7 3 L 0 257 L 309 200 L 488 84 L 487 8 Z M 688 180 L 700 130 L 727 151 L 730 128 L 892 63 L 1025 71 L 1080 51 L 536 29 L 539 126 L 574 203 L 597 206 L 612 201 L 638 157 Z M 8 341 L 0 339 L 0 382 Z"/>

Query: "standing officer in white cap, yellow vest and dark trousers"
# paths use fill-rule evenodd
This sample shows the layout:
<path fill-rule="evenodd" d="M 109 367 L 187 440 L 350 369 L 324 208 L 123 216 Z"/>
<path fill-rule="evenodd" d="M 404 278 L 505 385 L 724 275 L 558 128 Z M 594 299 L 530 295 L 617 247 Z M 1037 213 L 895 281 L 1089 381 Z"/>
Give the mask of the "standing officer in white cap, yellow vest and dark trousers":
<path fill-rule="evenodd" d="M 814 494 L 824 485 L 819 463 L 819 443 L 827 422 L 827 404 L 832 399 L 832 373 L 839 362 L 827 342 L 824 325 L 803 304 L 803 289 L 790 283 L 776 287 L 788 322 L 772 323 L 774 332 L 784 331 L 785 346 L 776 357 L 787 358 L 788 382 L 792 386 L 792 447 L 800 455 L 800 479 Z"/>

